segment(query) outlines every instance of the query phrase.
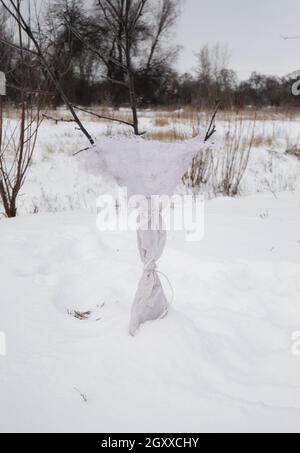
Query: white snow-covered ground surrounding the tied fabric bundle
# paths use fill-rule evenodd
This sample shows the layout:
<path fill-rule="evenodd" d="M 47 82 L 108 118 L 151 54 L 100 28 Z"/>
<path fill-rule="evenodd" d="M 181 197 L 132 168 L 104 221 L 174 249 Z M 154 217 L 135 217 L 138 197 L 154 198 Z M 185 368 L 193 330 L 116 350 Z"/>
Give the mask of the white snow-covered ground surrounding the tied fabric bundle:
<path fill-rule="evenodd" d="M 153 115 L 142 122 L 156 131 Z M 135 234 L 97 230 L 109 178 L 78 165 L 71 125 L 43 124 L 20 215 L 0 220 L 0 431 L 300 431 L 300 160 L 285 153 L 299 120 L 256 128 L 240 196 L 208 197 L 201 242 L 169 235 L 172 308 L 132 338 Z"/>

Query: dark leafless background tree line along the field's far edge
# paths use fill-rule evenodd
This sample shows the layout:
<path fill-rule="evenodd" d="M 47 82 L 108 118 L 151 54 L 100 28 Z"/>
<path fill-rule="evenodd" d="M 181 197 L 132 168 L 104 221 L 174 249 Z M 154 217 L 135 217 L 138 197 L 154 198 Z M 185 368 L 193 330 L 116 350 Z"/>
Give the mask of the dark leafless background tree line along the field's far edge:
<path fill-rule="evenodd" d="M 204 45 L 195 55 L 195 71 L 179 74 L 175 62 L 181 49 L 170 43 L 181 12 L 180 0 L 133 0 L 126 12 L 127 3 L 95 0 L 87 9 L 83 0 L 56 0 L 42 15 L 36 13 L 32 26 L 72 103 L 205 108 L 220 99 L 224 108 L 300 105 L 300 99 L 291 93 L 293 81 L 289 77 L 253 72 L 248 80 L 239 81 L 230 69 L 228 50 L 220 45 Z M 131 20 L 135 26 L 128 37 L 126 24 L 129 26 Z M 14 40 L 3 7 L 0 38 Z M 6 102 L 15 104 L 20 101 L 17 55 L 13 47 L 0 43 L 0 70 L 6 73 L 8 83 Z M 27 58 L 34 66 L 34 55 Z M 35 76 L 41 77 L 41 71 Z M 130 99 L 132 91 L 134 99 Z M 62 103 L 57 91 L 53 90 L 49 102 L 54 106 Z"/>

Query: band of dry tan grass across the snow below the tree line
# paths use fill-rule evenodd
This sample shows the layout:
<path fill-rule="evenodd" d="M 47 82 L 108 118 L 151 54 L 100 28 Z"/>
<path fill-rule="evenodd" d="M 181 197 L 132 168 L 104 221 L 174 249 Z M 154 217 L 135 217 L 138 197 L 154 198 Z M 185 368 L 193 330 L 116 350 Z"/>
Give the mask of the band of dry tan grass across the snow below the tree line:
<path fill-rule="evenodd" d="M 103 106 L 91 106 L 89 110 L 96 114 L 119 118 L 126 122 L 131 122 L 131 112 L 127 108 L 121 108 L 114 110 L 109 107 Z M 145 130 L 145 138 L 148 140 L 164 141 L 164 142 L 175 142 L 184 141 L 195 137 L 199 131 L 206 130 L 207 124 L 211 118 L 211 109 L 199 111 L 193 107 L 185 107 L 183 109 L 145 109 L 140 110 L 140 128 Z M 47 114 L 54 120 L 59 121 L 61 118 L 65 120 L 72 119 L 71 115 L 65 109 L 49 110 Z M 132 128 L 130 126 L 121 125 L 117 122 L 110 122 L 107 119 L 99 119 L 95 116 L 89 115 L 84 112 L 79 112 L 79 116 L 83 122 L 95 122 L 97 124 L 105 125 L 104 130 L 99 129 L 101 134 L 106 136 L 121 135 L 131 136 Z M 218 131 L 223 129 L 224 124 L 230 124 L 234 118 L 238 118 L 242 122 L 260 122 L 260 130 L 257 131 L 253 139 L 253 147 L 259 148 L 264 147 L 267 149 L 274 149 L 276 147 L 284 146 L 288 150 L 289 154 L 292 154 L 290 150 L 295 148 L 294 137 L 283 137 L 282 128 L 285 127 L 280 124 L 280 121 L 285 123 L 289 121 L 295 121 L 300 116 L 299 108 L 263 108 L 255 110 L 253 108 L 246 108 L 243 110 L 236 111 L 219 111 L 217 116 Z M 18 119 L 18 111 L 13 106 L 6 106 L 4 111 L 4 117 L 8 119 Z M 146 122 L 145 122 L 146 121 Z M 273 130 L 272 130 L 272 124 Z M 49 121 L 51 123 L 51 121 Z M 55 123 L 53 123 L 55 124 Z M 225 124 L 225 130 L 226 130 Z M 271 128 L 271 129 L 270 129 Z M 66 138 L 72 137 L 72 123 L 70 124 L 70 130 L 65 132 Z M 227 128 L 228 129 L 228 128 Z M 234 131 L 233 131 L 234 133 Z M 284 141 L 284 144 L 282 143 Z M 244 147 L 247 148 L 248 143 L 244 143 Z M 51 148 L 51 147 L 50 147 Z M 52 154 L 52 150 L 47 150 L 47 154 Z"/>

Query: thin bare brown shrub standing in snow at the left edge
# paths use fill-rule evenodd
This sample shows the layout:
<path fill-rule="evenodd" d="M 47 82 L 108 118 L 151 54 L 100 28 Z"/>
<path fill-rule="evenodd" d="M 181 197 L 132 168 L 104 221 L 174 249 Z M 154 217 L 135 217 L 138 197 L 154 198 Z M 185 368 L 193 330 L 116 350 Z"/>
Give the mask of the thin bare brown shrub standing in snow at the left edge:
<path fill-rule="evenodd" d="M 21 1 L 18 0 L 17 11 L 20 7 Z M 15 82 L 14 90 L 18 92 L 19 110 L 18 118 L 12 123 L 3 118 L 0 96 L 0 197 L 7 217 L 17 215 L 17 198 L 32 161 L 42 122 L 41 108 L 47 96 L 36 61 L 29 51 L 25 51 L 25 38 L 20 26 L 14 34 L 18 48 L 14 47 L 10 70 Z M 5 39 L 8 39 L 7 35 Z"/>

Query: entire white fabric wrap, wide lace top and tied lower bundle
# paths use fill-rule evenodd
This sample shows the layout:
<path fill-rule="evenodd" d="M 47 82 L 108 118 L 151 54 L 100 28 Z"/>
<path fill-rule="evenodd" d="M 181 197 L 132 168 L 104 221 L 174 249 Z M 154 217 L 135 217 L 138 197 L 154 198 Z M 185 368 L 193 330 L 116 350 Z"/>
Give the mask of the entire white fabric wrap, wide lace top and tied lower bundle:
<path fill-rule="evenodd" d="M 93 174 L 110 174 L 120 186 L 127 187 L 129 196 L 171 196 L 192 158 L 205 147 L 203 137 L 181 143 L 154 142 L 140 137 L 105 138 L 99 145 L 82 153 L 80 160 L 85 170 Z M 166 245 L 166 236 L 166 231 L 162 229 L 151 230 L 149 227 L 148 230 L 137 231 L 144 272 L 132 306 L 131 335 L 141 324 L 161 318 L 168 310 L 156 270 L 157 260 Z"/>

